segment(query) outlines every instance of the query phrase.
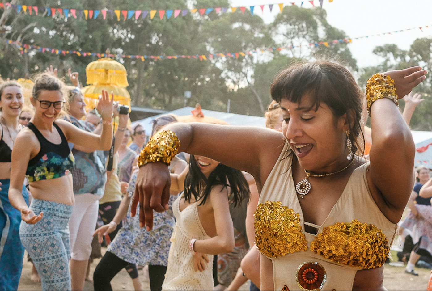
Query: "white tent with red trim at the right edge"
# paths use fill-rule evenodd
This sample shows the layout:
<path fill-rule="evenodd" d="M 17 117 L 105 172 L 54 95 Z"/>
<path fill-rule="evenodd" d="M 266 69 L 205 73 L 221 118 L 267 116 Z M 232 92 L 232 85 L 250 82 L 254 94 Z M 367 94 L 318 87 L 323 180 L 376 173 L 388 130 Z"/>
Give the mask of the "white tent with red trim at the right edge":
<path fill-rule="evenodd" d="M 432 131 L 411 130 L 416 144 L 414 166 L 432 169 Z"/>

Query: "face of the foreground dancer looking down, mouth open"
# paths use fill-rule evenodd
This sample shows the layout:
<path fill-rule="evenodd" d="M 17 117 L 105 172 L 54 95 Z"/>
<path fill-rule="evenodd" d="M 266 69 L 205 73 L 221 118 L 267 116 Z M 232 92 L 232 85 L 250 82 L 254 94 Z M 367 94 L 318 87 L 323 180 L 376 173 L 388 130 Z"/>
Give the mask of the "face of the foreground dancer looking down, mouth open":
<path fill-rule="evenodd" d="M 345 116 L 335 117 L 325 103 L 316 110 L 311 93 L 295 103 L 281 100 L 282 133 L 302 168 L 317 174 L 340 170 L 348 153 Z"/>

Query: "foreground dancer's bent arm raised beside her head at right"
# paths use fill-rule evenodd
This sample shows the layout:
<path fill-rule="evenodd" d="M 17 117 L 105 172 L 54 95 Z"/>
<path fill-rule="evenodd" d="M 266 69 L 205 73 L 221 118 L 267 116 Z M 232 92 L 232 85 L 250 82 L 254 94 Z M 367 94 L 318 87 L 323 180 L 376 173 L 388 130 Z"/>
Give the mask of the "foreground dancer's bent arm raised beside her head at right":
<path fill-rule="evenodd" d="M 391 76 L 397 96 L 402 97 L 425 79 L 426 71 L 412 67 L 383 74 Z M 382 93 L 380 90 L 375 87 L 369 92 L 379 96 Z M 384 95 L 394 95 L 389 92 L 387 90 Z M 381 212 L 397 223 L 413 189 L 413 137 L 394 100 L 376 99 L 370 108 L 370 116 L 373 142 L 370 171 L 367 172 L 369 188 Z"/>

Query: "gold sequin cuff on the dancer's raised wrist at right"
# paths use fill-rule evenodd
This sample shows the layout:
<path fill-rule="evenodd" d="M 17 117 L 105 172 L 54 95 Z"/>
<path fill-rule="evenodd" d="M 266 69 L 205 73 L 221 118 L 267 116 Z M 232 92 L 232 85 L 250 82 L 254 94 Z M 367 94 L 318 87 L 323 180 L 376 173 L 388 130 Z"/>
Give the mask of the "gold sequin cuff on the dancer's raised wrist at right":
<path fill-rule="evenodd" d="M 369 116 L 371 115 L 372 103 L 381 98 L 388 98 L 399 107 L 394 80 L 390 76 L 375 74 L 368 79 L 366 84 L 366 103 Z"/>

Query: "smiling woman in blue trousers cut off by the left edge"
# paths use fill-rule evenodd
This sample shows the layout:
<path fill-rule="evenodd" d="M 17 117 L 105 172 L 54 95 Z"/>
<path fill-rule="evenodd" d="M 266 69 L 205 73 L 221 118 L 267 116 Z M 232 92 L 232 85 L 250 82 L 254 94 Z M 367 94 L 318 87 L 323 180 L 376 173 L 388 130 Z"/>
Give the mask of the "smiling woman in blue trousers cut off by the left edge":
<path fill-rule="evenodd" d="M 21 86 L 15 81 L 0 85 L 0 290 L 17 290 L 22 270 L 24 247 L 19 240 L 21 213 L 10 205 L 7 191 L 10 183 L 12 149 L 15 138 L 22 129 L 18 123 L 22 110 Z M 19 192 L 28 203 L 27 190 L 22 185 Z"/>

